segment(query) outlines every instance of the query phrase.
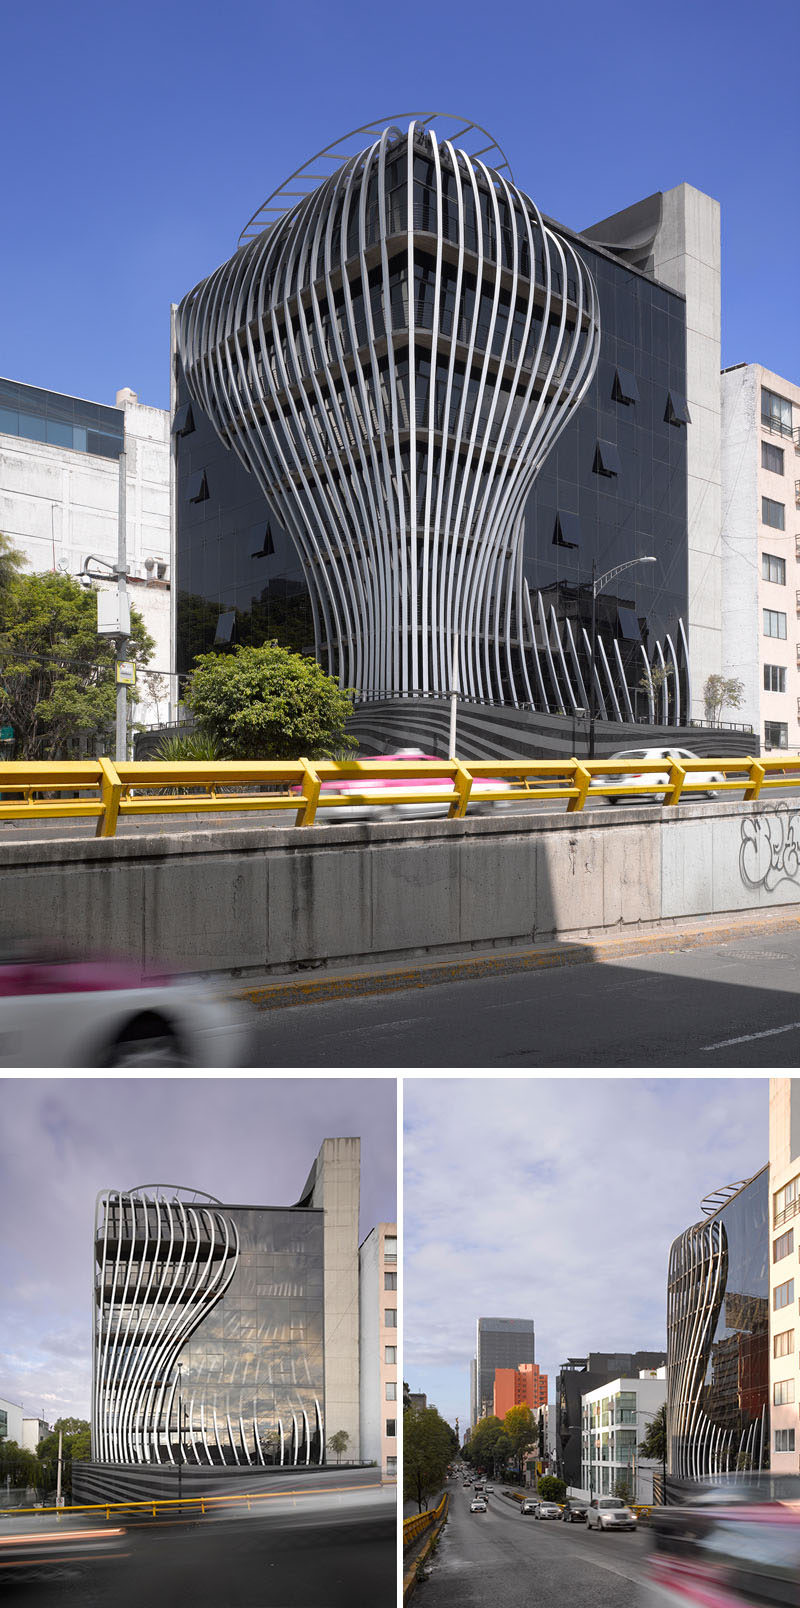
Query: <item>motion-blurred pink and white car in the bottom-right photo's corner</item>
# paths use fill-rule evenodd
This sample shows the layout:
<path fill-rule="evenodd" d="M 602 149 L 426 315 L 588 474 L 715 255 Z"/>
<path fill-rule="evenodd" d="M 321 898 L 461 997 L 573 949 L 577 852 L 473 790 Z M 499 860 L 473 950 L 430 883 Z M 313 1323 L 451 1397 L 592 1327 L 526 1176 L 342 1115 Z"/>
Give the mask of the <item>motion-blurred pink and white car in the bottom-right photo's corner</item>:
<path fill-rule="evenodd" d="M 800 1602 L 800 1507 L 752 1500 L 652 1512 L 647 1608 L 786 1608 Z"/>

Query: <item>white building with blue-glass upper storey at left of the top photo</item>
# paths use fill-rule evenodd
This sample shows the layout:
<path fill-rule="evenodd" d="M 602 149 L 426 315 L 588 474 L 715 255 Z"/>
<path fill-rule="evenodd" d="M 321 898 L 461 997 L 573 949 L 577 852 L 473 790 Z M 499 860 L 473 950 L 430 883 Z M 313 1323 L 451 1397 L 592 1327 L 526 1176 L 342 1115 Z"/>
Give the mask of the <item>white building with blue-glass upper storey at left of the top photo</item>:
<path fill-rule="evenodd" d="M 154 638 L 135 719 L 167 720 L 170 650 L 170 420 L 117 391 L 116 407 L 0 379 L 0 531 L 37 574 L 79 576 L 92 553 L 117 561 L 125 445 L 130 601 Z M 100 590 L 116 580 L 98 582 Z"/>

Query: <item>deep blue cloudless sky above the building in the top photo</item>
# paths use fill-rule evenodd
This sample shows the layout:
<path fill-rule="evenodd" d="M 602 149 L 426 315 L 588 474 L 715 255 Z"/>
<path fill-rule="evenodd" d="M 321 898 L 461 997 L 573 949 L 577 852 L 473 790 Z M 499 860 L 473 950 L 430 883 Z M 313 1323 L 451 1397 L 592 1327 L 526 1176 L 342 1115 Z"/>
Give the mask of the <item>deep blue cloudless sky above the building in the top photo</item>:
<path fill-rule="evenodd" d="M 800 379 L 795 10 L 40 0 L 3 16 L 0 371 L 169 402 L 169 306 L 315 151 L 466 113 L 582 228 L 681 180 L 723 209 L 723 365 Z"/>

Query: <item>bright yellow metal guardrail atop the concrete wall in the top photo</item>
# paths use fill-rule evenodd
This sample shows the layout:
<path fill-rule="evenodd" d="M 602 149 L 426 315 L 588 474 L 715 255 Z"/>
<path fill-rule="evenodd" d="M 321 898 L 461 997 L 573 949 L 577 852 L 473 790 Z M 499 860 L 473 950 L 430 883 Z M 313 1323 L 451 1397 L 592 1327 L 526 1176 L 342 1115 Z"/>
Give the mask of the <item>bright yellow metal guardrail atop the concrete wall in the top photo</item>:
<path fill-rule="evenodd" d="M 769 788 L 800 788 L 800 754 L 631 759 L 625 770 L 618 759 L 5 761 L 0 820 L 87 817 L 96 822 L 98 838 L 112 838 L 120 817 L 141 815 L 268 810 L 294 814 L 296 827 L 313 827 L 321 809 L 440 804 L 453 820 L 471 804 L 512 806 L 532 798 L 564 799 L 567 810 L 578 812 L 590 791 L 612 799 L 652 794 L 675 806 L 705 793 L 708 770 L 724 777 L 715 793 L 741 793 L 745 801 Z M 384 781 L 397 786 L 374 786 Z"/>

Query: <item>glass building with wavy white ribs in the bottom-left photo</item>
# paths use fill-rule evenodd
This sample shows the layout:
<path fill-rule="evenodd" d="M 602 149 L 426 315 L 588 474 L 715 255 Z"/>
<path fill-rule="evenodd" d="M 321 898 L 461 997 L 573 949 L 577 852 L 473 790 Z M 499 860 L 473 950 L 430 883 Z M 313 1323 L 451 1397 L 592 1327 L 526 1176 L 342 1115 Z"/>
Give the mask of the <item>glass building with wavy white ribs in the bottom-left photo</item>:
<path fill-rule="evenodd" d="M 92 1458 L 127 1468 L 360 1455 L 358 1148 L 328 1138 L 296 1206 L 103 1190 Z"/>

